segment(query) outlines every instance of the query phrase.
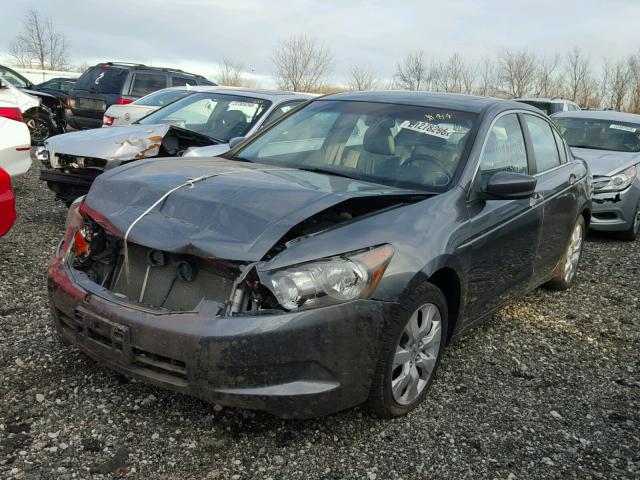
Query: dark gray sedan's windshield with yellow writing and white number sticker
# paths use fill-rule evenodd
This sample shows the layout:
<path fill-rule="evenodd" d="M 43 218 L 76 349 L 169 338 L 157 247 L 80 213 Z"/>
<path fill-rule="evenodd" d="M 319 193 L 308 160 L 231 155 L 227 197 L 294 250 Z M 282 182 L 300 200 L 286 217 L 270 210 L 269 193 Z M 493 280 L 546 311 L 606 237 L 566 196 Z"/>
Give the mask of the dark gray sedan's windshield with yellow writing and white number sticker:
<path fill-rule="evenodd" d="M 315 101 L 237 157 L 385 185 L 443 191 L 462 163 L 476 115 L 387 103 Z"/>

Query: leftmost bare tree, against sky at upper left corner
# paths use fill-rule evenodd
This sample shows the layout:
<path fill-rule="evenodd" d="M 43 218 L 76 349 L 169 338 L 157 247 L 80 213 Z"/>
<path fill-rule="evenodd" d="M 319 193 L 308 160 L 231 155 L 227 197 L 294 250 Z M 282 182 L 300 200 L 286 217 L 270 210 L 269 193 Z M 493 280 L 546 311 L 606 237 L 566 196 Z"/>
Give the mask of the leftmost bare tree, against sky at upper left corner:
<path fill-rule="evenodd" d="M 36 10 L 29 10 L 22 33 L 11 42 L 9 53 L 20 67 L 67 70 L 68 48 L 67 37 L 56 30 L 51 18 L 42 17 Z"/>

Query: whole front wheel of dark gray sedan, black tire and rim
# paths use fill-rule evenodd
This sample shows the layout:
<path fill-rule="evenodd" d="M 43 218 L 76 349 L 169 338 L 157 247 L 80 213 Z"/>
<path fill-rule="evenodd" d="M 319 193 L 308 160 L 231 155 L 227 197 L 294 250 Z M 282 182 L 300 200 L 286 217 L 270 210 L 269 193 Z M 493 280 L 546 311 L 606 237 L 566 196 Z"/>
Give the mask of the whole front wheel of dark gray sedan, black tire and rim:
<path fill-rule="evenodd" d="M 442 292 L 424 283 L 387 322 L 367 401 L 383 418 L 406 415 L 426 397 L 447 339 L 448 311 Z"/>

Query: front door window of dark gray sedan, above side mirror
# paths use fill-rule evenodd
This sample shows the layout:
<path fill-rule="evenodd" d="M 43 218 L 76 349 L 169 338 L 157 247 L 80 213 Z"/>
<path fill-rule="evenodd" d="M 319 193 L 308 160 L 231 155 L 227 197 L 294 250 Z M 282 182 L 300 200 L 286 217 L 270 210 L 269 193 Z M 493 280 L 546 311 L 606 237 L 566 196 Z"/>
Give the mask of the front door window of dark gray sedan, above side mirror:
<path fill-rule="evenodd" d="M 500 117 L 494 123 L 480 157 L 483 185 L 497 172 L 529 173 L 524 136 L 515 114 Z"/>

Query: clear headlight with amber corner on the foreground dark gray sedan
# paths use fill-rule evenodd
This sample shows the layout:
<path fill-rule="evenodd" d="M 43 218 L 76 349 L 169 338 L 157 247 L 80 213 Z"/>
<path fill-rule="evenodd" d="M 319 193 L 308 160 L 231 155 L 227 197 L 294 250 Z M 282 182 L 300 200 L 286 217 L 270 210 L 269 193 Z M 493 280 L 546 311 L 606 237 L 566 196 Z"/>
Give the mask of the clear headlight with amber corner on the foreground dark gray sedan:
<path fill-rule="evenodd" d="M 364 252 L 261 272 L 260 279 L 287 310 L 314 308 L 368 298 L 391 257 L 390 245 Z"/>

